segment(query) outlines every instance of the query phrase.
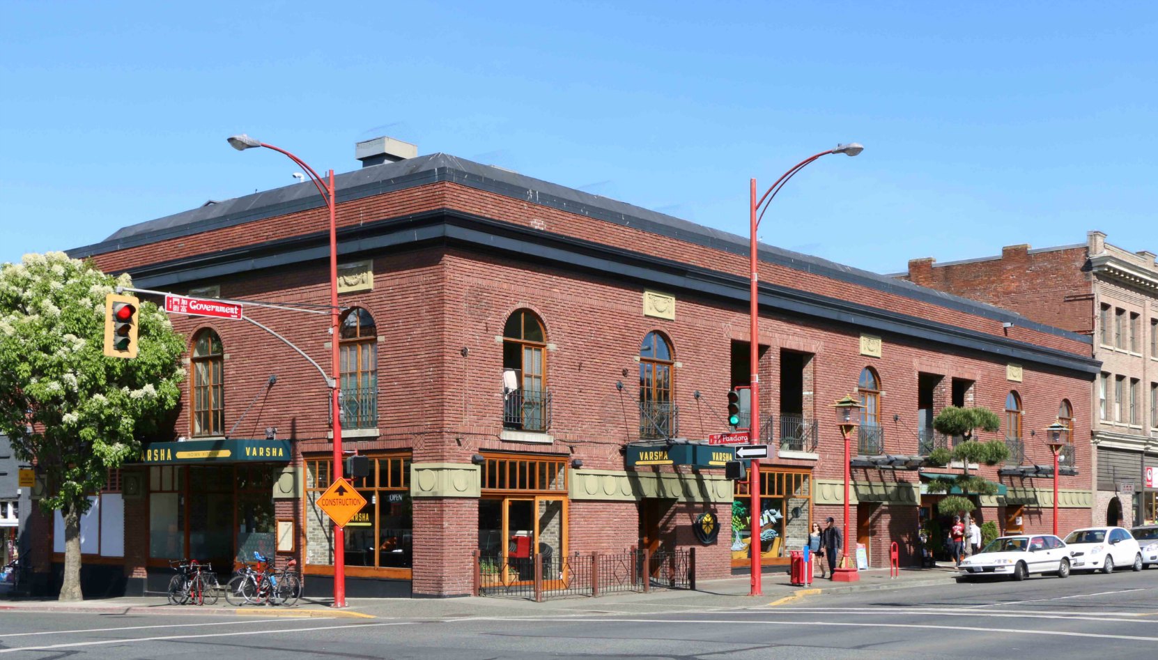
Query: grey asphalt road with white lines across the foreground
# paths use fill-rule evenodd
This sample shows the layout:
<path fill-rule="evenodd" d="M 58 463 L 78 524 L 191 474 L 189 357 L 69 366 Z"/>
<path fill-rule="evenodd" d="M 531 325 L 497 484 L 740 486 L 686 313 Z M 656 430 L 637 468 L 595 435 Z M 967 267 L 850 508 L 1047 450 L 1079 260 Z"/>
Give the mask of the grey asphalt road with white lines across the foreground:
<path fill-rule="evenodd" d="M 767 599 L 763 599 L 764 601 Z M 589 601 L 593 610 L 599 602 Z M 1158 654 L 1158 570 L 808 596 L 777 607 L 442 619 L 0 615 L 0 660 L 1016 658 Z"/>

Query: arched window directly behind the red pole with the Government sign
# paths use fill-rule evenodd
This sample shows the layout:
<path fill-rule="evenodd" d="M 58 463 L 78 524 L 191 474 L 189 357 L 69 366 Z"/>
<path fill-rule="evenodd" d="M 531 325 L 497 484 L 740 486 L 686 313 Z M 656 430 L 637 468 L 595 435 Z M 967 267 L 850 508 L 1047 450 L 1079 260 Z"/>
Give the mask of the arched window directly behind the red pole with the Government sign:
<path fill-rule="evenodd" d="M 342 426 L 378 426 L 378 325 L 356 307 L 342 317 Z"/>

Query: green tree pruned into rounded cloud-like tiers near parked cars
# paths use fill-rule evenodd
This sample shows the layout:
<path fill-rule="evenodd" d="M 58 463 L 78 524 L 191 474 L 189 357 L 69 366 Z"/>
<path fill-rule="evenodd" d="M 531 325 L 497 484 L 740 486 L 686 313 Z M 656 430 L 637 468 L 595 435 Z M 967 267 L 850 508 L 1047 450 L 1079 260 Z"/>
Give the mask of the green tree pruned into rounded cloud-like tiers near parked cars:
<path fill-rule="evenodd" d="M 941 515 L 965 514 L 965 527 L 969 528 L 969 514 L 976 508 L 969 500 L 969 494 L 997 494 L 997 484 L 969 474 L 969 463 L 995 465 L 1009 457 L 1009 448 L 1001 440 L 979 442 L 974 440 L 977 428 L 990 433 L 1001 428 L 1001 418 L 988 408 L 958 408 L 951 405 L 933 418 L 933 428 L 950 438 L 961 438 L 952 450 L 935 449 L 930 461 L 946 465 L 951 461 L 960 461 L 962 472 L 953 481 L 933 481 L 928 485 L 929 492 L 948 492 L 957 486 L 963 496 L 950 496 L 937 504 Z"/>

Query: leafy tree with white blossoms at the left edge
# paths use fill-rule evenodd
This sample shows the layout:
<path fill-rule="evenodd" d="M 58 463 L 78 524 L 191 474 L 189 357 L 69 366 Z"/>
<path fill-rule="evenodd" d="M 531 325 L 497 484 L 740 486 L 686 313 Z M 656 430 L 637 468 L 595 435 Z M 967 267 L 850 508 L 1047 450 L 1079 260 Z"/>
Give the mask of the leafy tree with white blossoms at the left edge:
<path fill-rule="evenodd" d="M 184 377 L 184 339 L 151 302 L 139 307 L 137 358 L 104 355 L 104 296 L 117 285 L 131 286 L 129 276 L 64 252 L 0 265 L 0 433 L 44 475 L 43 509 L 64 518 L 60 600 L 81 599 L 88 496 L 164 432 Z"/>

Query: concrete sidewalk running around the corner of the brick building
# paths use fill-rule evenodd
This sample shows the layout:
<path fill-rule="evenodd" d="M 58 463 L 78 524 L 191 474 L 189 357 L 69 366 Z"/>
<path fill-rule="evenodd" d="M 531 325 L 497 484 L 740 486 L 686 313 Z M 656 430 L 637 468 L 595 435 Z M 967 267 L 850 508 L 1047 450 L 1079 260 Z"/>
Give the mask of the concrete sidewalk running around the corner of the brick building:
<path fill-rule="evenodd" d="M 776 606 L 804 596 L 846 594 L 878 589 L 897 589 L 932 585 L 951 585 L 955 571 L 945 567 L 907 569 L 896 578 L 888 570 L 860 572 L 857 582 L 816 580 L 809 586 L 789 584 L 783 572 L 764 573 L 763 595 L 749 596 L 747 575 L 708 580 L 696 591 L 654 589 L 651 593 L 610 594 L 599 597 L 569 596 L 536 603 L 514 596 L 456 599 L 347 599 L 347 607 L 329 607 L 329 599 L 302 599 L 294 607 L 249 606 L 236 608 L 221 599 L 217 606 L 170 606 L 163 596 L 94 599 L 61 603 L 43 599 L 0 600 L 0 611 L 45 611 L 74 614 L 126 615 L 215 615 L 215 616 L 290 616 L 343 618 L 464 618 L 511 616 L 567 616 L 614 613 L 646 613 L 674 609 L 736 609 Z"/>

